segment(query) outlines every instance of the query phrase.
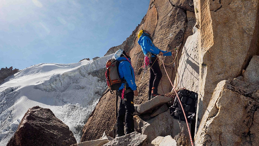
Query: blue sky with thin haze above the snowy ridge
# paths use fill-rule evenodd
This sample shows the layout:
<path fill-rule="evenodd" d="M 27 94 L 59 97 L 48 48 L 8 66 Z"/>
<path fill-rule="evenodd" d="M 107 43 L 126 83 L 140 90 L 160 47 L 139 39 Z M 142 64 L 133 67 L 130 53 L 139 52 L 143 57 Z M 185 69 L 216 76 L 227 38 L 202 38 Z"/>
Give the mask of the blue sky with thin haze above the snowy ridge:
<path fill-rule="evenodd" d="M 149 0 L 0 0 L 0 68 L 102 57 L 126 40 Z"/>

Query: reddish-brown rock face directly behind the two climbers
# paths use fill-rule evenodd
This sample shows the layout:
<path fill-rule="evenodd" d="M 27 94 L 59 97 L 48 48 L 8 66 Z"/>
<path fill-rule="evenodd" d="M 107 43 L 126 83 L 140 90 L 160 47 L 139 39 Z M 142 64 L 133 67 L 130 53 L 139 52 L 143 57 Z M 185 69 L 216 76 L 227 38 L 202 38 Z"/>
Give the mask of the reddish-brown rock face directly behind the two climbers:
<path fill-rule="evenodd" d="M 189 19 L 187 18 L 187 15 Z M 188 11 L 186 14 L 184 9 L 173 5 L 168 0 L 152 0 L 150 1 L 146 16 L 142 19 L 140 25 L 133 31 L 132 35 L 130 35 L 123 44 L 110 48 L 106 53 L 106 55 L 112 54 L 119 49 L 124 49 L 130 53 L 136 75 L 136 84 L 139 89 L 139 96 L 134 99 L 134 104 L 142 104 L 148 99 L 149 73 L 147 72 L 144 74 L 144 70 L 141 67 L 143 65 L 144 54 L 138 44 L 138 31 L 141 29 L 148 30 L 152 34 L 154 44 L 161 50 L 174 50 L 174 48 L 183 43 L 184 39 L 187 39 L 188 35 L 192 35 L 190 30 L 192 30 L 195 24 L 193 23 L 195 22 L 195 18 L 191 16 L 194 16 L 193 12 Z M 189 24 L 187 22 L 188 20 L 190 20 Z M 172 51 L 172 53 L 174 54 L 173 56 L 163 57 L 163 61 L 169 77 L 173 82 L 175 70 L 172 62 L 174 61 L 177 52 Z M 160 63 L 161 59 L 162 58 L 160 58 Z M 170 85 L 169 79 L 163 68 L 161 68 L 161 71 L 163 74 L 161 80 L 163 90 L 160 84 L 158 92 L 168 93 L 172 90 L 172 86 Z M 144 77 L 142 79 L 143 74 Z M 115 105 L 115 95 L 110 94 L 108 91 L 104 93 L 84 126 L 81 142 L 98 139 L 105 130 L 109 131 L 112 129 L 113 125 L 116 123 Z M 107 121 L 107 119 L 110 120 Z"/>

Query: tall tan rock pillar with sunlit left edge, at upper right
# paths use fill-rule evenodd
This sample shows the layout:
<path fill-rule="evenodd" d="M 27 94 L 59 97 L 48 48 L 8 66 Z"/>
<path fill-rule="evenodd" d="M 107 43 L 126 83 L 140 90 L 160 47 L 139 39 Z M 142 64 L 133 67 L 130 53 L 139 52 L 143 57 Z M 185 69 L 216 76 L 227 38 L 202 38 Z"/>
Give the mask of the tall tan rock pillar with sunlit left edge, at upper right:
<path fill-rule="evenodd" d="M 217 84 L 240 76 L 259 54 L 259 1 L 194 0 L 194 7 L 199 28 L 199 127 Z"/>

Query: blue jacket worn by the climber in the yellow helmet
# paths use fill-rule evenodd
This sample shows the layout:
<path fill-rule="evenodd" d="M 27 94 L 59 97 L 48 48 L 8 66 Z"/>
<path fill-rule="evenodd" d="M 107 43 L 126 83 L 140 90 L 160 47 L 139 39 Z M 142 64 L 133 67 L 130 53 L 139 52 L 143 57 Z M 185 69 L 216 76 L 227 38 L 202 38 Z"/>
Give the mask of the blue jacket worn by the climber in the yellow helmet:
<path fill-rule="evenodd" d="M 146 55 L 148 52 L 151 52 L 153 54 L 159 54 L 160 51 L 162 53 L 167 52 L 167 51 L 163 51 L 163 50 L 160 50 L 159 48 L 157 48 L 153 44 L 151 39 L 147 35 L 145 35 L 144 33 L 138 39 L 138 44 L 141 46 L 144 55 Z M 167 52 L 167 53 L 163 54 L 163 56 L 172 56 L 172 52 Z M 155 57 L 155 56 L 152 55 L 152 57 Z"/>

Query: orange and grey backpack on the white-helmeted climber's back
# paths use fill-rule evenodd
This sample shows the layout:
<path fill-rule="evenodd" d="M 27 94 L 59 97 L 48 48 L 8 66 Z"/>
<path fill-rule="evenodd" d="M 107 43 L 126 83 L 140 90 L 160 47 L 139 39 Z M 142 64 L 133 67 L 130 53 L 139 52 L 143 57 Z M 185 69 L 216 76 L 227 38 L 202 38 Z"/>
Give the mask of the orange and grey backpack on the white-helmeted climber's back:
<path fill-rule="evenodd" d="M 113 58 L 109 59 L 106 63 L 105 77 L 107 85 L 110 88 L 110 92 L 112 94 L 113 91 L 117 91 L 123 83 L 123 80 L 119 76 L 119 63 L 120 61 Z"/>

